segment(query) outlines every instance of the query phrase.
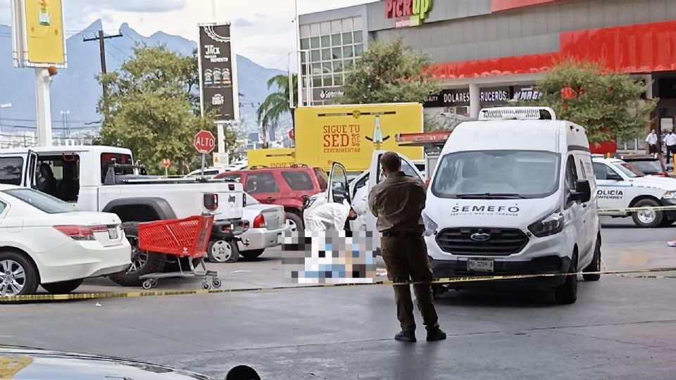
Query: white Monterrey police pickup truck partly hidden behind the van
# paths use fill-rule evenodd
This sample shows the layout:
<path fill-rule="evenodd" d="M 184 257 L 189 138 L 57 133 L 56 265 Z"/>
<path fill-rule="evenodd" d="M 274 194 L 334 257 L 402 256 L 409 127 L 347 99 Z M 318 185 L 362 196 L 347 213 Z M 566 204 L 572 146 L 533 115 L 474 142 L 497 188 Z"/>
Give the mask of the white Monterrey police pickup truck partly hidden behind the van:
<path fill-rule="evenodd" d="M 646 176 L 617 158 L 592 158 L 599 212 L 611 217 L 632 217 L 639 227 L 660 227 L 676 222 L 676 210 L 627 212 L 625 208 L 676 206 L 676 179 Z"/>

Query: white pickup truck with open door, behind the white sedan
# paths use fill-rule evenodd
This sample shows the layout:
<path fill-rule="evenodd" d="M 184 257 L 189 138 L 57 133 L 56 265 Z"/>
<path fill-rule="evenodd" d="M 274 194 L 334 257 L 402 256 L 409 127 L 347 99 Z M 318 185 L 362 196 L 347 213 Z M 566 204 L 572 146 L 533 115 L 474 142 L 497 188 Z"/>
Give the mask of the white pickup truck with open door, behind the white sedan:
<path fill-rule="evenodd" d="M 226 241 L 237 249 L 246 229 L 242 184 L 200 178 L 163 179 L 133 165 L 132 152 L 111 146 L 49 146 L 0 150 L 0 183 L 37 189 L 77 210 L 117 214 L 132 243 L 132 265 L 110 278 L 139 286 L 139 276 L 158 272 L 167 256 L 138 249 L 138 224 L 215 213 L 210 249 Z M 219 244 L 220 243 L 220 244 Z"/>

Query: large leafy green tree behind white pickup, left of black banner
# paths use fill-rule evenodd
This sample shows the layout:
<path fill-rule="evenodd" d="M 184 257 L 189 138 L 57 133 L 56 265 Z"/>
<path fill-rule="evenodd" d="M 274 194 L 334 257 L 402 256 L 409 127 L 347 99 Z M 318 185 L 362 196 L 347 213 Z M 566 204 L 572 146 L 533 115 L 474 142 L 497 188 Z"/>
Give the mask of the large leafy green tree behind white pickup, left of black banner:
<path fill-rule="evenodd" d="M 200 129 L 215 134 L 215 125 L 211 115 L 199 115 L 197 75 L 194 54 L 184 56 L 165 46 L 134 48 L 130 61 L 99 77 L 108 89 L 99 101 L 101 144 L 130 148 L 150 172 L 164 172 L 163 158 L 172 160 L 172 173 L 199 165 L 194 135 Z M 234 139 L 228 133 L 226 146 L 234 145 Z"/>

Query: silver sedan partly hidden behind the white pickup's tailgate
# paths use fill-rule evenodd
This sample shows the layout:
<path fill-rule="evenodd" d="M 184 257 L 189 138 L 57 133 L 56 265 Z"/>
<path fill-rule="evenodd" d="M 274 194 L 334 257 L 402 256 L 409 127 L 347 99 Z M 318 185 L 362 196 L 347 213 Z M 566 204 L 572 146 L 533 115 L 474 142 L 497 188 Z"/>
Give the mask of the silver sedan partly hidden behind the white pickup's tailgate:
<path fill-rule="evenodd" d="M 208 259 L 211 262 L 236 262 L 239 256 L 257 258 L 267 248 L 282 244 L 284 232 L 289 226 L 284 218 L 284 207 L 266 205 L 256 201 L 249 194 L 246 196 L 246 207 L 242 220 L 249 222 L 249 229 L 242 234 L 242 241 L 237 243 L 237 251 L 226 241 L 214 241 L 209 245 Z"/>

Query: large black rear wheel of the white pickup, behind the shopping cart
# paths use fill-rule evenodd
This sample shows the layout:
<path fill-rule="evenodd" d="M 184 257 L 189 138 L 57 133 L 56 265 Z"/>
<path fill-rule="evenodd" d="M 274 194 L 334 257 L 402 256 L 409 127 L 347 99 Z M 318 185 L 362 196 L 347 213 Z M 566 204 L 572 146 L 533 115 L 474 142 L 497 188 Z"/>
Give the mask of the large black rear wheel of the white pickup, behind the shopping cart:
<path fill-rule="evenodd" d="M 132 246 L 132 265 L 125 272 L 115 273 L 108 276 L 116 284 L 122 286 L 141 286 L 143 279 L 140 276 L 158 273 L 164 270 L 167 262 L 165 255 L 141 251 L 139 248 L 139 223 L 123 223 L 125 235 Z"/>

